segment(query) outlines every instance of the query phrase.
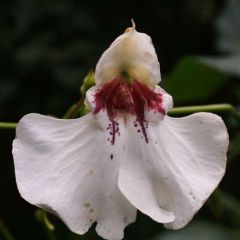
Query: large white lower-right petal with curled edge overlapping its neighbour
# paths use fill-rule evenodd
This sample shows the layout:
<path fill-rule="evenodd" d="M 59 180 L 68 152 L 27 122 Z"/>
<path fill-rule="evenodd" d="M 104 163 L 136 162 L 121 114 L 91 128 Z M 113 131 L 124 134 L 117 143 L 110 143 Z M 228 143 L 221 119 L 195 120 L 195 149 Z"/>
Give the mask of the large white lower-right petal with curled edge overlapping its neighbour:
<path fill-rule="evenodd" d="M 167 228 L 183 227 L 224 175 L 228 134 L 222 119 L 211 113 L 166 116 L 159 124 L 149 122 L 149 143 L 139 138 L 132 124 L 128 134 L 120 190 Z"/>

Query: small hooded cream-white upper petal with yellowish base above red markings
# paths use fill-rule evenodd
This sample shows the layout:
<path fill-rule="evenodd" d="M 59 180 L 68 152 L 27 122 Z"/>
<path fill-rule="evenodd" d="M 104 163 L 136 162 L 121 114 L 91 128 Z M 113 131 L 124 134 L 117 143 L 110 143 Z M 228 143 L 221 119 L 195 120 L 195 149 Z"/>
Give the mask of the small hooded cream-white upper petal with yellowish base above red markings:
<path fill-rule="evenodd" d="M 119 36 L 99 59 L 96 84 L 111 81 L 122 72 L 153 85 L 160 82 L 158 58 L 147 34 L 132 29 Z"/>

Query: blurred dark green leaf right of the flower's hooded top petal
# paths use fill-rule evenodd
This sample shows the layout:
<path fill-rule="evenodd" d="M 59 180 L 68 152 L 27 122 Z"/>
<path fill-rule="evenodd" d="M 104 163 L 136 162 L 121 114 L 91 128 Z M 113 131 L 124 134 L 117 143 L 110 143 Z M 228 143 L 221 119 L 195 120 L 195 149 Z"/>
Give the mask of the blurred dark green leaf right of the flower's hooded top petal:
<path fill-rule="evenodd" d="M 185 57 L 164 80 L 164 88 L 177 104 L 201 102 L 215 94 L 227 80 L 227 75 L 202 63 L 198 57 Z"/>

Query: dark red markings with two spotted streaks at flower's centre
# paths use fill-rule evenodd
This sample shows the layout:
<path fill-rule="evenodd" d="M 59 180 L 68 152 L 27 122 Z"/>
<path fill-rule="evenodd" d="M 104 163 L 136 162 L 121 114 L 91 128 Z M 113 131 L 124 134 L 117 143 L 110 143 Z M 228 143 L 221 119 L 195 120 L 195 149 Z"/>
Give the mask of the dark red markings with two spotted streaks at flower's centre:
<path fill-rule="evenodd" d="M 148 85 L 137 80 L 128 83 L 122 77 L 104 84 L 95 94 L 95 104 L 95 114 L 101 110 L 107 110 L 111 122 L 107 130 L 110 131 L 112 145 L 115 142 L 116 133 L 120 134 L 117 119 L 121 113 L 125 112 L 136 116 L 134 126 L 140 125 L 147 143 L 146 128 L 148 123 L 144 116 L 145 109 L 165 113 L 162 107 L 161 93 L 154 92 Z"/>

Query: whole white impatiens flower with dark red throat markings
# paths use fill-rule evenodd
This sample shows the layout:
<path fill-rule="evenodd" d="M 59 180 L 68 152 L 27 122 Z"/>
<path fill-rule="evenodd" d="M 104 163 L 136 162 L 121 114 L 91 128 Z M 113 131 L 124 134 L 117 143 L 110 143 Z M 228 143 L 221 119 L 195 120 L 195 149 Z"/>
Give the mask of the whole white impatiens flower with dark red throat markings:
<path fill-rule="evenodd" d="M 137 209 L 166 228 L 182 228 L 224 175 L 222 119 L 166 115 L 173 102 L 156 85 L 151 38 L 134 27 L 103 53 L 95 73 L 86 94 L 91 113 L 20 120 L 13 156 L 21 196 L 78 234 L 96 222 L 103 238 L 122 239 Z"/>

